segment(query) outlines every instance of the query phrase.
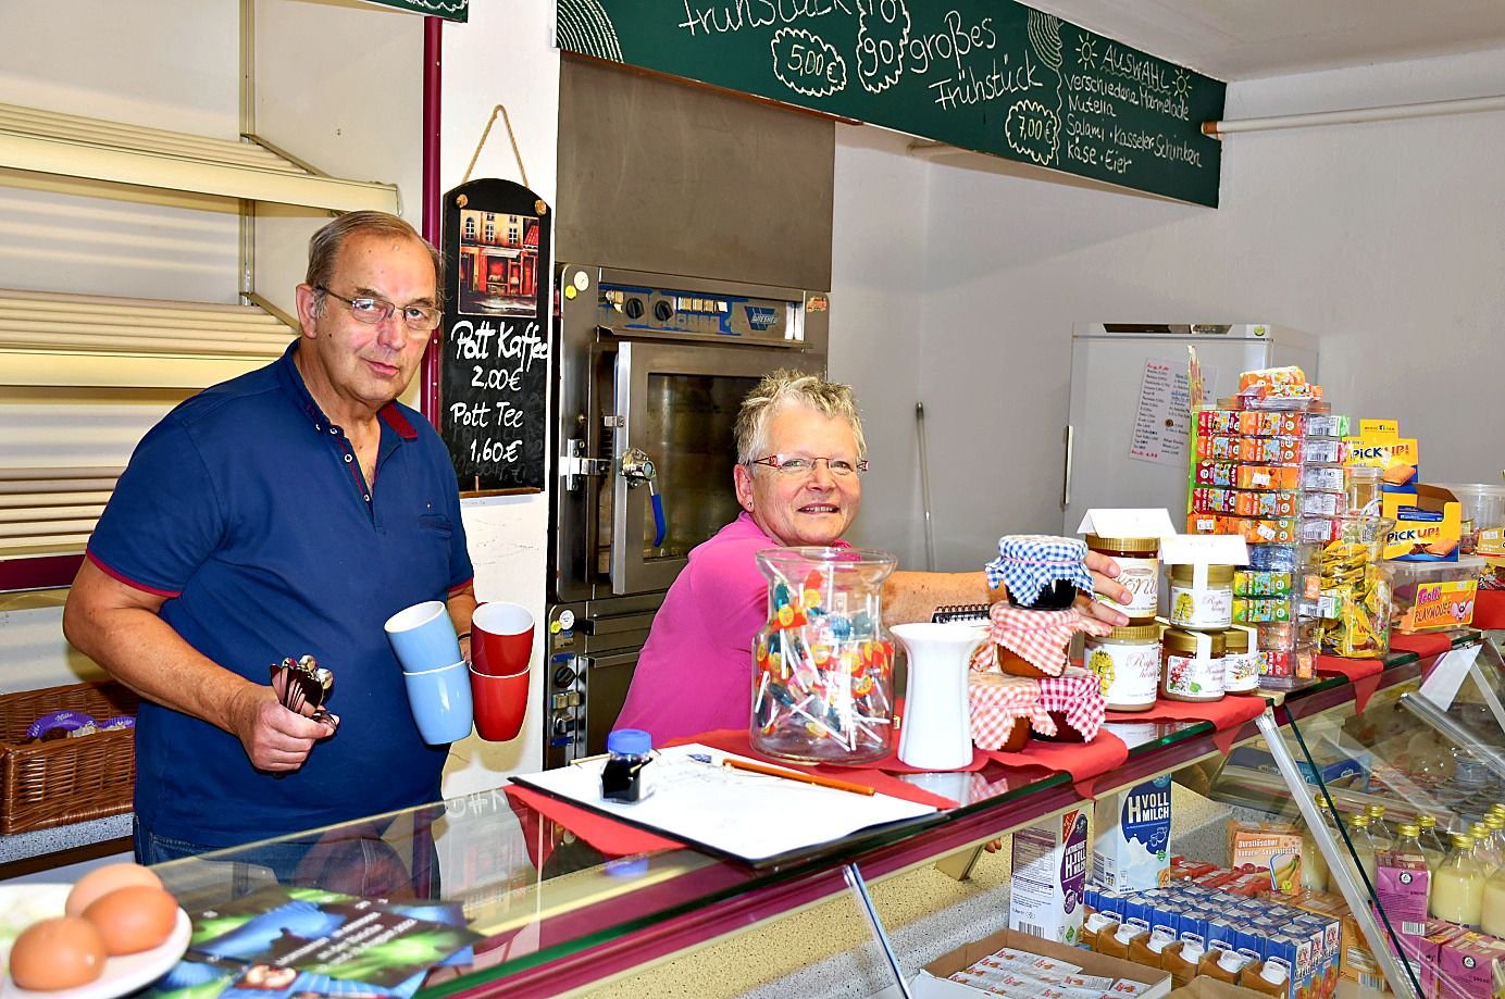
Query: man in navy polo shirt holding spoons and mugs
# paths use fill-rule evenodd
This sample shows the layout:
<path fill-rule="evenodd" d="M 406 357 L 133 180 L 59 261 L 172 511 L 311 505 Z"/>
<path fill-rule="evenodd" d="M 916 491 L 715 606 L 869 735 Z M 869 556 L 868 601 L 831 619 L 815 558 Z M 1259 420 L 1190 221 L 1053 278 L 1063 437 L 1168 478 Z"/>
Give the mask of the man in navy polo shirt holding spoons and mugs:
<path fill-rule="evenodd" d="M 441 316 L 442 257 L 352 212 L 309 244 L 301 336 L 137 445 L 68 597 L 68 639 L 137 691 L 144 864 L 439 797 L 445 746 L 408 712 L 382 623 L 476 608 L 455 471 L 397 403 Z M 281 706 L 269 667 L 334 674 L 331 721 Z M 266 849 L 289 876 L 299 849 Z"/>

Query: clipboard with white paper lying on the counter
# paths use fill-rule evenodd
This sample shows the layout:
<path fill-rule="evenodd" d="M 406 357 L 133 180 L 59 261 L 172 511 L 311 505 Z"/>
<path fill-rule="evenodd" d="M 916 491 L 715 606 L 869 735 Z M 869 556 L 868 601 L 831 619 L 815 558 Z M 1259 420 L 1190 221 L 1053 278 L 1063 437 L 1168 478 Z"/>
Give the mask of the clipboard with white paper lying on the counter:
<path fill-rule="evenodd" d="M 757 763 L 698 743 L 661 749 L 646 767 L 652 793 L 631 805 L 602 799 L 605 758 L 516 775 L 512 781 L 754 867 L 777 864 L 862 829 L 936 812 L 932 805 L 889 794 L 853 794 L 721 766 L 728 757 Z"/>

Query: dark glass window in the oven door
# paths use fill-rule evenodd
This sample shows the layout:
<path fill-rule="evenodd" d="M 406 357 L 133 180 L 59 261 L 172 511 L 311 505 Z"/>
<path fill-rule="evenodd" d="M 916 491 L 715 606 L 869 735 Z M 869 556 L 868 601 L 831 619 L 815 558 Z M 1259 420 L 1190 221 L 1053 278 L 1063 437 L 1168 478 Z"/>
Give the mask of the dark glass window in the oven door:
<path fill-rule="evenodd" d="M 736 519 L 731 429 L 743 396 L 756 385 L 756 378 L 649 375 L 647 426 L 634 438 L 658 466 L 668 533 L 664 545 L 653 548 L 653 509 L 644 504 L 644 560 L 683 558 Z"/>

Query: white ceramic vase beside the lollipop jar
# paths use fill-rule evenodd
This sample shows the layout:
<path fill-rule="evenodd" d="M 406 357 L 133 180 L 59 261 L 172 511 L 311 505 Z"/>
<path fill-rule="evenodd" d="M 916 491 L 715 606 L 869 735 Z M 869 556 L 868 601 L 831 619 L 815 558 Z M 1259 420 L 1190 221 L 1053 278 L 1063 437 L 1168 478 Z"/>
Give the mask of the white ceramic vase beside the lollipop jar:
<path fill-rule="evenodd" d="M 894 624 L 909 653 L 898 758 L 921 770 L 959 770 L 972 761 L 968 663 L 987 635 L 978 624 Z"/>

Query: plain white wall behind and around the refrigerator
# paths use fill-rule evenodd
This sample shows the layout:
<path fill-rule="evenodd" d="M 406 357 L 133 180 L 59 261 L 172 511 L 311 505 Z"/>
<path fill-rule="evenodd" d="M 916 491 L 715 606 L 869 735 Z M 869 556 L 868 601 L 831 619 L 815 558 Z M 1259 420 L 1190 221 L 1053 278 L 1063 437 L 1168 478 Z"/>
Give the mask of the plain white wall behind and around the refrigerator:
<path fill-rule="evenodd" d="M 1234 84 L 1228 117 L 1485 93 L 1505 93 L 1505 51 Z M 868 420 L 926 403 L 942 567 L 978 566 L 1001 533 L 1060 531 L 1073 322 L 1254 317 L 1317 334 L 1338 411 L 1398 418 L 1427 478 L 1499 481 L 1505 113 L 1231 137 L 1216 211 L 950 164 L 926 164 L 895 202 L 885 181 L 903 153 L 870 153 L 862 131 L 838 137 L 832 358 L 862 332 L 846 308 L 874 220 L 903 242 L 892 208 L 914 205 L 918 370 L 853 379 Z M 918 522 L 914 492 L 873 489 L 862 518 Z"/>

